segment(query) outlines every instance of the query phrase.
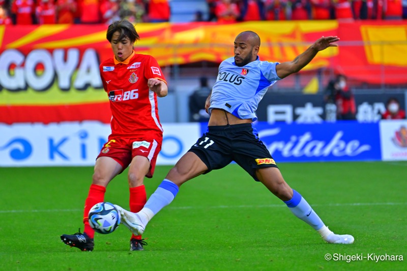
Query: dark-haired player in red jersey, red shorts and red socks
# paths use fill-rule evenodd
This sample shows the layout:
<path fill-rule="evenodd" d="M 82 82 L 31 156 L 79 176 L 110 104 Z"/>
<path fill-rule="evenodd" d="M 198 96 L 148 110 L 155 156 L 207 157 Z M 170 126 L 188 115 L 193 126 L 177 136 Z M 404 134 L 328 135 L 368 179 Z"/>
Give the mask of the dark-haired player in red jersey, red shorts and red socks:
<path fill-rule="evenodd" d="M 129 167 L 130 210 L 138 212 L 147 201 L 144 176 L 152 178 L 161 150 L 163 129 L 158 117 L 157 96 L 168 87 L 157 60 L 136 54 L 139 40 L 134 25 L 123 19 L 109 25 L 106 38 L 114 57 L 100 64 L 100 76 L 110 109 L 111 134 L 96 159 L 95 172 L 83 214 L 84 233 L 61 235 L 61 240 L 82 251 L 94 248 L 94 230 L 88 222 L 89 210 L 104 201 L 109 182 Z M 132 235 L 130 250 L 143 250 L 141 235 Z"/>

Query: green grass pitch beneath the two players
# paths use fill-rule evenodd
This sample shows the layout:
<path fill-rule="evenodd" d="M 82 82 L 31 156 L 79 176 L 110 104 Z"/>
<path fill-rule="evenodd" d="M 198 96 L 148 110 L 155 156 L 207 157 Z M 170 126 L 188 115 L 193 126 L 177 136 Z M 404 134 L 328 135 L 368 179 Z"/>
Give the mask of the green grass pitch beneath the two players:
<path fill-rule="evenodd" d="M 281 163 L 287 183 L 353 245 L 326 244 L 238 165 L 199 176 L 147 226 L 144 251 L 129 251 L 123 225 L 95 235 L 95 250 L 60 241 L 77 232 L 92 167 L 0 167 L 1 270 L 406 270 L 407 162 Z M 148 196 L 170 169 L 157 166 Z M 126 173 L 105 200 L 128 208 Z M 331 255 L 402 255 L 404 261 Z M 349 257 L 349 256 L 347 256 Z"/>

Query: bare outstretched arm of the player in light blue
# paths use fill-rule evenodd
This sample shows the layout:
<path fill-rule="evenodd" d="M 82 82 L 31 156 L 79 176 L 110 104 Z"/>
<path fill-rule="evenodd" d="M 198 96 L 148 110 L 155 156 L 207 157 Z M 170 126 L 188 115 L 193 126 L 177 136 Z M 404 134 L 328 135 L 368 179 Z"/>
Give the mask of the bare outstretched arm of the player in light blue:
<path fill-rule="evenodd" d="M 337 47 L 334 42 L 339 41 L 336 36 L 324 37 L 318 39 L 314 42 L 304 53 L 297 56 L 293 61 L 282 62 L 276 66 L 277 76 L 284 78 L 290 74 L 298 73 L 303 67 L 305 67 L 312 58 L 315 57 L 316 53 L 325 50 L 328 47 Z"/>

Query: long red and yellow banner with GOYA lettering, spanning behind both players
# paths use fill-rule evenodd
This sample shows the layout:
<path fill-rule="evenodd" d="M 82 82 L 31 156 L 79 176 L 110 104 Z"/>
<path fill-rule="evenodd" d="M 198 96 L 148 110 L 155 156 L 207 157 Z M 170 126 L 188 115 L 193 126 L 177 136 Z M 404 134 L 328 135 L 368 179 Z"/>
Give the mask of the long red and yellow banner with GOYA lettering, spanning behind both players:
<path fill-rule="evenodd" d="M 106 25 L 0 25 L 0 122 L 110 121 L 99 63 L 112 56 Z M 268 21 L 237 24 L 140 23 L 137 53 L 161 66 L 220 63 L 233 55 L 243 30 L 261 39 L 261 60 L 291 61 L 321 36 L 339 36 L 339 47 L 317 54 L 304 70 L 341 69 L 373 84 L 405 83 L 404 21 Z"/>

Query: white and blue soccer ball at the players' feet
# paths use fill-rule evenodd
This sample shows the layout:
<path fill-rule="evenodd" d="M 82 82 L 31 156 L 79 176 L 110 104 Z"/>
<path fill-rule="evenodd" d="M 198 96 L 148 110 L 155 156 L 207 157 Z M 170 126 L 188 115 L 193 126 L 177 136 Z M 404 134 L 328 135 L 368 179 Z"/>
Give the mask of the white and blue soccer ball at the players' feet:
<path fill-rule="evenodd" d="M 89 211 L 89 225 L 102 234 L 112 233 L 120 224 L 118 210 L 110 202 L 99 202 Z"/>

